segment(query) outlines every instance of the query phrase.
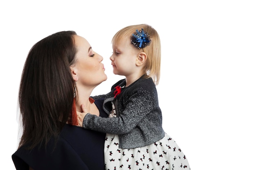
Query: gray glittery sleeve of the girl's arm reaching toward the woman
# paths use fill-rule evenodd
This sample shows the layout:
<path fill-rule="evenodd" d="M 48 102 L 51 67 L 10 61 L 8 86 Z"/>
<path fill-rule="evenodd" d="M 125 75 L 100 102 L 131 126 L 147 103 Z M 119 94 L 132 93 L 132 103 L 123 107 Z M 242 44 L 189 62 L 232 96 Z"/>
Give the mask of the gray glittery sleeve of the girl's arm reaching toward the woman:
<path fill-rule="evenodd" d="M 124 104 L 126 107 L 119 117 L 102 118 L 87 114 L 83 120 L 83 128 L 122 135 L 134 129 L 141 119 L 148 118 L 148 114 L 159 115 L 157 91 L 137 88 L 130 93 L 126 104 Z"/>

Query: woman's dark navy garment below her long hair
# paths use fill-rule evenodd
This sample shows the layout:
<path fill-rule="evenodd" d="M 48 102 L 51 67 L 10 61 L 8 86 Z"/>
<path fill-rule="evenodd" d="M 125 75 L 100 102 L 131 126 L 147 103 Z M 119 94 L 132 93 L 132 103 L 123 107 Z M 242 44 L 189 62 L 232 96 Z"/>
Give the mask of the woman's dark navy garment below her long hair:
<path fill-rule="evenodd" d="M 108 117 L 102 109 L 103 99 L 94 102 L 101 117 Z M 12 160 L 17 170 L 105 170 L 104 142 L 106 134 L 66 124 L 56 148 L 50 140 L 45 146 L 32 150 L 19 148 Z"/>

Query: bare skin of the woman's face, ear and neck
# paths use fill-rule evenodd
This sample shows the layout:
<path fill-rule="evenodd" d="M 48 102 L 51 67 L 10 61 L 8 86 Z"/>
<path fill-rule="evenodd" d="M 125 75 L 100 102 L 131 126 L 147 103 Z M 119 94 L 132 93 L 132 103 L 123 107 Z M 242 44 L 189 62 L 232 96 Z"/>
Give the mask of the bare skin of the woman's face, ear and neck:
<path fill-rule="evenodd" d="M 76 81 L 77 100 L 76 110 L 81 112 L 81 105 L 85 105 L 88 112 L 99 116 L 99 110 L 94 103 L 90 103 L 89 97 L 92 90 L 107 79 L 102 63 L 103 57 L 92 50 L 89 42 L 75 35 L 77 48 L 76 64 L 70 67 L 73 79 Z"/>

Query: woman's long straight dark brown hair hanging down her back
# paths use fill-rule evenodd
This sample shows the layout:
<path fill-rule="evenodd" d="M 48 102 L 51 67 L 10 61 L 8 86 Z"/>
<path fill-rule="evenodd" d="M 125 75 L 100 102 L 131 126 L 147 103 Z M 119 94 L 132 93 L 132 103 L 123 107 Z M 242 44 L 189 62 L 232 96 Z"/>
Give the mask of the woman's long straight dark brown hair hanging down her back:
<path fill-rule="evenodd" d="M 61 31 L 37 42 L 29 51 L 19 90 L 23 133 L 19 147 L 46 145 L 58 135 L 72 111 L 75 63 L 74 31 Z"/>

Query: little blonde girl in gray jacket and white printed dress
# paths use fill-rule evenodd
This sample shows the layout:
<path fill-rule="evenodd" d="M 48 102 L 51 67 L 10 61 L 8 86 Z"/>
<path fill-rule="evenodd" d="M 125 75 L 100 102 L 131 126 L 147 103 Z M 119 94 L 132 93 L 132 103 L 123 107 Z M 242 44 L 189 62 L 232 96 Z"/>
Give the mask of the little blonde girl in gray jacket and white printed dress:
<path fill-rule="evenodd" d="M 112 39 L 113 73 L 125 79 L 105 97 L 108 118 L 78 113 L 86 129 L 106 132 L 106 170 L 189 170 L 186 156 L 162 128 L 156 85 L 159 82 L 161 44 L 147 24 L 127 26 Z M 83 122 L 83 125 L 81 125 Z"/>

